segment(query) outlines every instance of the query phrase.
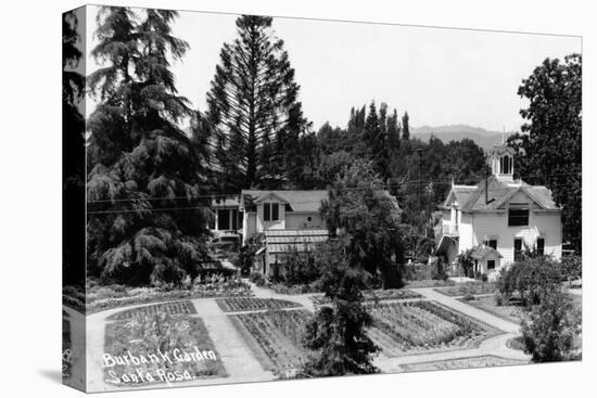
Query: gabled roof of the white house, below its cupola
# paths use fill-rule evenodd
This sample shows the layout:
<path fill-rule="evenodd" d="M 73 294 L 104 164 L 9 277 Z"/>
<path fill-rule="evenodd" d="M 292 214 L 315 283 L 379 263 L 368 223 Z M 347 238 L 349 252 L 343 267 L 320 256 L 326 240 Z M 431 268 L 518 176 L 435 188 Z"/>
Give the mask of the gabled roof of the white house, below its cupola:
<path fill-rule="evenodd" d="M 486 196 L 485 191 L 487 192 Z M 524 193 L 543 209 L 559 209 L 551 197 L 551 192 L 547 188 L 529 185 L 522 180 L 517 182 L 500 181 L 495 176 L 490 177 L 486 184 L 485 181 L 480 181 L 477 185 L 454 185 L 446 202 L 441 207 L 446 208 L 452 195 L 455 195 L 462 211 L 496 210 L 503 208 L 518 192 Z"/>

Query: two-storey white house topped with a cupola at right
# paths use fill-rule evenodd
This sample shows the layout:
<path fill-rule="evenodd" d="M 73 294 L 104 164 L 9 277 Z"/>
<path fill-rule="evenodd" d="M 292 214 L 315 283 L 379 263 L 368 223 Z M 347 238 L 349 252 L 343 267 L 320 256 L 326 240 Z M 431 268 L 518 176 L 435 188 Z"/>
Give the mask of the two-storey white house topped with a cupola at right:
<path fill-rule="evenodd" d="M 436 254 L 455 265 L 471 249 L 474 269 L 490 280 L 497 271 L 535 249 L 556 259 L 562 253 L 561 208 L 551 192 L 513 179 L 513 150 L 494 146 L 487 154 L 492 175 L 475 185 L 452 184 L 437 231 Z"/>

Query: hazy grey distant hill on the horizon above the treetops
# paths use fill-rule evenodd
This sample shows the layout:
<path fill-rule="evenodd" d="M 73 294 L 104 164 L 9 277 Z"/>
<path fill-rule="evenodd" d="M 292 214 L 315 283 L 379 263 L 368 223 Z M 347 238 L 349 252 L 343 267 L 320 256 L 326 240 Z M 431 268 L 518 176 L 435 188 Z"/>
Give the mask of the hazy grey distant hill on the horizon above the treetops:
<path fill-rule="evenodd" d="M 491 131 L 481 127 L 472 127 L 468 125 L 411 127 L 410 134 L 424 142 L 429 141 L 431 134 L 442 140 L 444 143 L 448 143 L 449 141 L 460 141 L 463 138 L 468 138 L 473 140 L 484 150 L 488 150 L 493 145 L 501 143 L 500 131 Z M 513 134 L 513 131 L 506 131 L 504 137 L 508 139 L 510 134 Z"/>

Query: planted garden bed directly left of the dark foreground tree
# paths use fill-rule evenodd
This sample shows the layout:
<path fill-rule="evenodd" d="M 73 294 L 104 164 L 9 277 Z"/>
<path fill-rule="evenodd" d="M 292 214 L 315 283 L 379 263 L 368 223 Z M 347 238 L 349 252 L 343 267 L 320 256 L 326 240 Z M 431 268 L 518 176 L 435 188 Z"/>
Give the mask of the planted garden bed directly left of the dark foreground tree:
<path fill-rule="evenodd" d="M 307 310 L 252 312 L 230 316 L 265 370 L 292 376 L 303 368 L 307 349 L 302 345 Z"/>

